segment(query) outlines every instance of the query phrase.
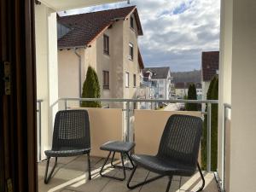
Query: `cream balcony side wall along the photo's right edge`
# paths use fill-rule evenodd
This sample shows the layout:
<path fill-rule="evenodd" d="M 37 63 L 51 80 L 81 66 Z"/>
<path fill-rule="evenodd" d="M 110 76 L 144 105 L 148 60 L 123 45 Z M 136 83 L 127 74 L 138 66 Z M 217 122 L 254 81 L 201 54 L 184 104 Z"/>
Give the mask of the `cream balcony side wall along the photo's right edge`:
<path fill-rule="evenodd" d="M 256 2 L 222 1 L 218 172 L 221 170 L 221 132 L 223 103 L 232 105 L 229 115 L 230 155 L 227 191 L 256 191 Z M 249 89 L 248 89 L 249 87 Z M 228 146 L 229 143 L 226 143 Z"/>

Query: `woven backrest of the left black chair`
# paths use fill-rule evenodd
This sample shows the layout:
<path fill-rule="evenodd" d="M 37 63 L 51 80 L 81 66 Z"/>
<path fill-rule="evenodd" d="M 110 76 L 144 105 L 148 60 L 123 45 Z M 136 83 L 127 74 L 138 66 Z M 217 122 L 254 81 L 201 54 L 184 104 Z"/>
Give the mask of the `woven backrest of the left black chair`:
<path fill-rule="evenodd" d="M 55 116 L 52 150 L 90 148 L 90 122 L 86 110 L 59 111 Z"/>

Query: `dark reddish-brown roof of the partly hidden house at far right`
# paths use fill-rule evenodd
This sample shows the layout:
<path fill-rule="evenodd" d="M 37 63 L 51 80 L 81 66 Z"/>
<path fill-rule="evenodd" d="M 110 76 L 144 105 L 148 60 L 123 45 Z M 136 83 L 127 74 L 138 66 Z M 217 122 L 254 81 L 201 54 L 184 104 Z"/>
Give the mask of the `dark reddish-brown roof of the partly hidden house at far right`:
<path fill-rule="evenodd" d="M 219 51 L 202 52 L 201 69 L 203 81 L 211 81 L 218 72 Z"/>

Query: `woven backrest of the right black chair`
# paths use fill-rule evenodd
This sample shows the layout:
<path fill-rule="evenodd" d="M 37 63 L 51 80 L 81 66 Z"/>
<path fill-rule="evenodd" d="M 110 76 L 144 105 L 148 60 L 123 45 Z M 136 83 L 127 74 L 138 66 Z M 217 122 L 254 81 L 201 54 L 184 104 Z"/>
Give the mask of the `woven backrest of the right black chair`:
<path fill-rule="evenodd" d="M 157 156 L 196 166 L 201 135 L 201 118 L 174 114 L 166 123 Z"/>

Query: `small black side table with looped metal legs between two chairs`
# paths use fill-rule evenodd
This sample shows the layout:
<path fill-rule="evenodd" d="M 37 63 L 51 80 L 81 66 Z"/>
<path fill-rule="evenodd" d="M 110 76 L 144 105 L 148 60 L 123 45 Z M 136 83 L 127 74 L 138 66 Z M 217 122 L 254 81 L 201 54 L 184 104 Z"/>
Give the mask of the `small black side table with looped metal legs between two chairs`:
<path fill-rule="evenodd" d="M 112 142 L 108 142 L 108 143 L 104 143 L 102 144 L 101 146 L 101 150 L 104 150 L 104 151 L 109 151 L 108 153 L 108 157 L 107 159 L 105 160 L 103 166 L 102 166 L 102 169 L 100 171 L 100 175 L 102 177 L 108 177 L 108 178 L 113 178 L 113 179 L 117 179 L 119 181 L 124 181 L 125 180 L 125 177 L 126 177 L 126 174 L 125 174 L 125 169 L 129 169 L 129 170 L 132 170 L 134 168 L 134 165 L 132 163 L 132 160 L 131 160 L 131 156 L 129 154 L 129 152 L 131 151 L 132 148 L 135 147 L 135 143 L 128 143 L 128 142 L 119 142 L 119 141 L 112 141 Z M 123 172 L 124 172 L 124 177 L 113 177 L 113 176 L 108 176 L 108 175 L 103 175 L 102 174 L 102 171 L 104 169 L 104 166 L 106 166 L 107 162 L 108 162 L 108 159 L 109 159 L 109 156 L 110 154 L 112 154 L 113 152 L 113 156 L 112 156 L 112 160 L 111 160 L 111 166 L 113 168 L 122 168 L 123 169 Z M 122 166 L 116 166 L 116 165 L 113 165 L 113 158 L 114 158 L 114 155 L 115 153 L 120 153 L 121 155 L 121 161 L 122 161 Z M 124 163 L 124 155 L 126 155 L 128 157 L 128 159 L 131 161 L 131 166 L 132 167 L 127 167 L 125 166 L 125 163 Z"/>

